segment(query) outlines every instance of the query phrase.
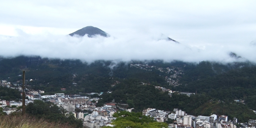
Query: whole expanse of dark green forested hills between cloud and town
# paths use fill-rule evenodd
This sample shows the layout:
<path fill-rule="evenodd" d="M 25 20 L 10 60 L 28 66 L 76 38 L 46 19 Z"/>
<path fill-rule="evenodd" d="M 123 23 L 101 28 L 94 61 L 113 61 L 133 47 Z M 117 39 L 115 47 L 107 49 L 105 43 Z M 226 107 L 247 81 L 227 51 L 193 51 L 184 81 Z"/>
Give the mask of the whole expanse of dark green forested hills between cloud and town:
<path fill-rule="evenodd" d="M 136 63 L 157 68 L 144 70 L 142 67 L 130 66 Z M 173 74 L 173 71 L 164 70 L 169 67 L 175 71 L 182 70 L 183 73 L 178 74 L 179 86 L 166 82 L 166 78 Z M 66 88 L 66 91 L 62 91 L 65 94 L 112 91 L 103 93 L 97 106 L 114 100 L 116 103 L 129 104 L 129 108 L 134 108 L 136 112 L 146 108 L 169 111 L 179 108 L 193 115 L 226 114 L 229 118 L 237 117 L 241 122 L 256 119 L 256 114 L 250 110 L 256 110 L 256 67 L 251 62 L 222 64 L 209 61 L 99 60 L 87 63 L 25 56 L 0 58 L 0 80 L 20 83 L 22 77 L 18 75 L 23 70 L 26 71 L 26 79 L 34 80 L 30 88 L 46 92 L 61 92 L 60 88 Z M 172 93 L 170 96 L 155 86 L 197 94 L 188 97 Z M 1 96 L 8 98 L 6 92 L 1 91 Z M 14 95 L 12 98 L 19 97 Z M 245 104 L 234 100 L 243 100 Z"/>

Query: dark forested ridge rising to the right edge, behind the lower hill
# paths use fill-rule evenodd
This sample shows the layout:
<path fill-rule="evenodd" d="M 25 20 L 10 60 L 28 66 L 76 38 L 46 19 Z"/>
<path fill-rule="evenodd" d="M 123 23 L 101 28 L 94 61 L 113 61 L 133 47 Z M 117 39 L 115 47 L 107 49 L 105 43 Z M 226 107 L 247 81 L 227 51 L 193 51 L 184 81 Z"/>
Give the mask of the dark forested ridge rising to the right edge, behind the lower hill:
<path fill-rule="evenodd" d="M 244 99 L 256 94 L 256 67 L 243 67 L 237 70 L 207 77 L 179 86 L 180 90 L 202 93 L 224 99 Z"/>

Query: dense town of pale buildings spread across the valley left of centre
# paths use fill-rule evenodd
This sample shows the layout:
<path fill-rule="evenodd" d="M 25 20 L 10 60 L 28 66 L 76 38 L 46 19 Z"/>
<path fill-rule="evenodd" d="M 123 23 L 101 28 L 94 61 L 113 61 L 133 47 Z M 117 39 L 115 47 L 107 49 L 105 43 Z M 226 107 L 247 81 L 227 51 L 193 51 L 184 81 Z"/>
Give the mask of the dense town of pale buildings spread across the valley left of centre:
<path fill-rule="evenodd" d="M 2 80 L 1 86 L 17 89 L 22 92 L 22 84 L 18 83 L 10 83 L 5 80 Z M 64 89 L 64 88 L 63 88 Z M 115 119 L 112 115 L 118 111 L 116 108 L 116 103 L 107 103 L 101 107 L 96 107 L 96 104 L 99 98 L 89 98 L 85 95 L 65 95 L 64 93 L 55 93 L 52 95 L 41 95 L 44 91 L 36 91 L 30 88 L 26 89 L 26 97 L 25 104 L 27 105 L 30 102 L 34 102 L 34 100 L 44 100 L 48 102 L 52 102 L 59 107 L 63 107 L 69 113 L 73 113 L 76 118 L 83 120 L 83 125 L 90 128 L 97 128 L 102 126 L 112 126 L 111 120 Z M 111 92 L 109 92 L 111 93 Z M 22 93 L 20 93 L 22 95 Z M 101 93 L 88 93 L 88 95 Z M 22 106 L 22 100 L 20 101 L 6 101 L 0 100 L 0 107 L 3 107 L 3 111 L 7 114 L 11 112 L 18 111 L 17 108 L 12 108 L 11 106 L 15 105 L 16 107 Z M 6 107 L 10 106 L 10 107 Z M 82 112 L 75 112 L 75 109 L 80 109 Z M 79 110 L 78 109 L 78 110 Z M 131 109 L 127 111 L 131 112 Z"/>

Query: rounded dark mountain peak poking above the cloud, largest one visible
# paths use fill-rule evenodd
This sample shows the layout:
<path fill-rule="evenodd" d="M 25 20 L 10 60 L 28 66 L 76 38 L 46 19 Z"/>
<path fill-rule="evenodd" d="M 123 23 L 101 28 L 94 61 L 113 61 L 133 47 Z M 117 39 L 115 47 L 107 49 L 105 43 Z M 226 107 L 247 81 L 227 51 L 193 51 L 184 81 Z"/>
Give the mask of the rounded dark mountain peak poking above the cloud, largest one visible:
<path fill-rule="evenodd" d="M 79 29 L 71 34 L 69 34 L 70 36 L 74 36 L 74 35 L 79 35 L 79 36 L 84 36 L 84 35 L 88 35 L 88 37 L 93 37 L 95 35 L 101 35 L 103 37 L 109 37 L 110 35 L 108 33 L 106 33 L 105 31 L 99 29 L 99 28 L 96 28 L 96 27 L 93 27 L 93 26 L 87 26 L 87 27 L 84 27 L 82 29 Z"/>

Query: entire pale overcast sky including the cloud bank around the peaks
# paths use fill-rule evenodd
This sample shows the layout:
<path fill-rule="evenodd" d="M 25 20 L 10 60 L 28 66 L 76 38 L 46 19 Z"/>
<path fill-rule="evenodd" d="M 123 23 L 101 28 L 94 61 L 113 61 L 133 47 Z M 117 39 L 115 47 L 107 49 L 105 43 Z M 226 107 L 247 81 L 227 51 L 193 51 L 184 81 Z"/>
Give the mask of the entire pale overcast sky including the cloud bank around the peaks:
<path fill-rule="evenodd" d="M 255 5 L 256 1 L 1 1 L 0 55 L 256 62 L 255 42 L 250 44 L 256 39 Z M 111 37 L 66 36 L 86 26 Z M 167 36 L 181 44 L 164 40 Z M 243 58 L 230 58 L 230 52 Z"/>

